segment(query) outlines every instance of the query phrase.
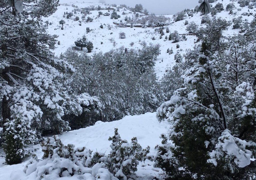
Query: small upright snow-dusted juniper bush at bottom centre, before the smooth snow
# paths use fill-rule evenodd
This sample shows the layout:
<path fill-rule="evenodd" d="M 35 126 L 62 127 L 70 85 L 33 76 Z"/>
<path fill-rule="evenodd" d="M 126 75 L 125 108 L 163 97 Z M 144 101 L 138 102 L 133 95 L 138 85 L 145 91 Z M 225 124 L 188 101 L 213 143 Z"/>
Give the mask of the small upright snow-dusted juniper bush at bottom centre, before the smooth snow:
<path fill-rule="evenodd" d="M 118 179 L 127 180 L 132 172 L 137 171 L 139 161 L 145 161 L 150 147 L 142 149 L 135 137 L 130 143 L 122 140 L 118 129 L 115 129 L 115 134 L 109 137 L 109 141 L 112 141 L 110 145 L 112 150 L 108 155 L 108 161 L 110 161 L 108 168 Z"/>

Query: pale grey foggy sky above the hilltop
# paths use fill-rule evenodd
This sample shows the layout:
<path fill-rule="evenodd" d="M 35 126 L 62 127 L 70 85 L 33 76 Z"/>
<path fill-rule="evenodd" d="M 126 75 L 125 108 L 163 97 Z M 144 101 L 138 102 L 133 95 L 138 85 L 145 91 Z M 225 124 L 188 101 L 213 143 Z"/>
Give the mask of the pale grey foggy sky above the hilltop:
<path fill-rule="evenodd" d="M 67 2 L 98 2 L 98 0 L 60 0 L 60 3 Z M 175 14 L 185 8 L 194 8 L 198 5 L 198 0 L 105 0 L 108 4 L 126 4 L 134 7 L 135 4 L 142 4 L 149 13 L 157 15 Z"/>

